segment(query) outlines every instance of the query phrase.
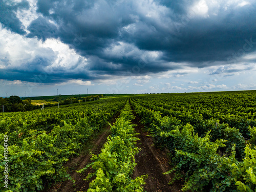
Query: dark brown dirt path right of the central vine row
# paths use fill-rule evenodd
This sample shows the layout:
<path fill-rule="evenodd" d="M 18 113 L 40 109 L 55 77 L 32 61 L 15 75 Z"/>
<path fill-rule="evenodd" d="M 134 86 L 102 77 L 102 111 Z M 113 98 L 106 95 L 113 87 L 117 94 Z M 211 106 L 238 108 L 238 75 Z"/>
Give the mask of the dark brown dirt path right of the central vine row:
<path fill-rule="evenodd" d="M 171 169 L 169 163 L 170 159 L 166 155 L 167 151 L 161 151 L 154 146 L 152 137 L 147 136 L 148 133 L 143 132 L 144 125 L 139 121 L 139 117 L 134 114 L 135 119 L 132 121 L 137 126 L 134 126 L 135 131 L 139 133 L 137 137 L 140 141 L 137 141 L 137 146 L 141 148 L 141 151 L 135 156 L 136 167 L 134 177 L 140 175 L 147 175 L 144 185 L 144 190 L 147 192 L 156 191 L 181 191 L 181 181 L 176 181 L 172 185 L 168 185 L 172 175 L 163 175 L 164 172 Z"/>

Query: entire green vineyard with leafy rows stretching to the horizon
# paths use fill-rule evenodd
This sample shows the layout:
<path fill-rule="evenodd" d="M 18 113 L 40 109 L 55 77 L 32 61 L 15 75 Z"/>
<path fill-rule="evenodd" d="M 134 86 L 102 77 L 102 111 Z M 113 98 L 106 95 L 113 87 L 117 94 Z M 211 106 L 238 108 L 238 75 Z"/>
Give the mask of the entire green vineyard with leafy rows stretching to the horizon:
<path fill-rule="evenodd" d="M 78 181 L 67 163 L 108 126 L 99 152 L 74 170 Z M 256 190 L 256 91 L 129 95 L 1 113 L 0 130 L 1 191 Z"/>

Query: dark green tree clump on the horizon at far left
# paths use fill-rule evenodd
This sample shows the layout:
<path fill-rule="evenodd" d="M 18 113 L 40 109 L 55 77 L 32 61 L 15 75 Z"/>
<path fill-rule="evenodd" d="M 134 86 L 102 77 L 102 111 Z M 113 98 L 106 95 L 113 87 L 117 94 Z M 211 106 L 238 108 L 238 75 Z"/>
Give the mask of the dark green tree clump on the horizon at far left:
<path fill-rule="evenodd" d="M 31 111 L 34 109 L 38 109 L 40 106 L 36 106 L 31 104 L 30 99 L 22 100 L 20 97 L 14 95 L 10 97 L 0 97 L 1 108 L 0 111 L 3 112 L 19 112 L 19 111 Z"/>

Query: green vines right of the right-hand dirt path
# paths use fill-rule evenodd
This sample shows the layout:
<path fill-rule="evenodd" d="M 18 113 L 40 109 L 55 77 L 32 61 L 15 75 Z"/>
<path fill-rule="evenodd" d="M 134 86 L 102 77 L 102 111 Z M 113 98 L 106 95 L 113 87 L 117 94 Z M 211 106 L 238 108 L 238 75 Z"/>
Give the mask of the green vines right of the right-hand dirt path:
<path fill-rule="evenodd" d="M 253 98 L 255 92 L 166 94 L 131 103 L 158 146 L 168 147 L 174 168 L 166 174 L 184 178 L 184 191 L 255 191 Z"/>

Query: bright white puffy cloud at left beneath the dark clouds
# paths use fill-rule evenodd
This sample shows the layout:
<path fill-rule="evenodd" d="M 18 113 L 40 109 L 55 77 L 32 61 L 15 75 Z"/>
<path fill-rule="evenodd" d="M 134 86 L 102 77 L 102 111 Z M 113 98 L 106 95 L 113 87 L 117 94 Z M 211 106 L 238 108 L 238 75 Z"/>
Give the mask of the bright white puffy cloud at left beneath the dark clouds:
<path fill-rule="evenodd" d="M 12 33 L 0 24 L 0 69 L 35 69 L 52 73 L 54 71 L 80 72 L 87 65 L 87 58 L 78 55 L 59 39 L 26 38 Z M 44 60 L 40 61 L 43 58 Z M 38 62 L 38 63 L 36 63 Z"/>

